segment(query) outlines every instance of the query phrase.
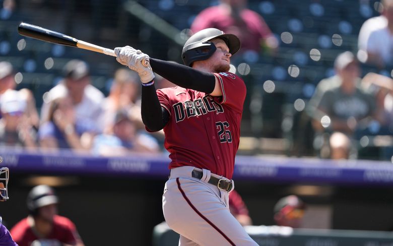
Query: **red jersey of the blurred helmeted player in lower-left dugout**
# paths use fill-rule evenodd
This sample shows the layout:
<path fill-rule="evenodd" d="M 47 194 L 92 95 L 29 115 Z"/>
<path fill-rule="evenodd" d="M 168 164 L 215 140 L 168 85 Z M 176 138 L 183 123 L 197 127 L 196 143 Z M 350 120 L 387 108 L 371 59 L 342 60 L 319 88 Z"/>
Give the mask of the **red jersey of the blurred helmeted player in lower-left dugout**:
<path fill-rule="evenodd" d="M 53 218 L 52 232 L 45 238 L 39 237 L 29 225 L 28 218 L 19 221 L 12 229 L 11 235 L 19 246 L 30 246 L 34 240 L 39 239 L 56 239 L 62 243 L 75 245 L 81 242 L 74 223 L 68 218 L 55 215 Z"/>

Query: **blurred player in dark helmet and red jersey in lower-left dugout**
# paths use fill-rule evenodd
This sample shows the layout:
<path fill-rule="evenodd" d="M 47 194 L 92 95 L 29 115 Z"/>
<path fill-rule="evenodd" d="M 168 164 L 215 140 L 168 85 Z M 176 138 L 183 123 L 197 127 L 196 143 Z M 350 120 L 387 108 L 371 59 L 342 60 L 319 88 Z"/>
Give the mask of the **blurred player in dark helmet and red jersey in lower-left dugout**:
<path fill-rule="evenodd" d="M 52 188 L 34 187 L 27 196 L 29 216 L 18 222 L 11 235 L 19 246 L 83 246 L 74 223 L 57 215 L 59 200 Z"/>

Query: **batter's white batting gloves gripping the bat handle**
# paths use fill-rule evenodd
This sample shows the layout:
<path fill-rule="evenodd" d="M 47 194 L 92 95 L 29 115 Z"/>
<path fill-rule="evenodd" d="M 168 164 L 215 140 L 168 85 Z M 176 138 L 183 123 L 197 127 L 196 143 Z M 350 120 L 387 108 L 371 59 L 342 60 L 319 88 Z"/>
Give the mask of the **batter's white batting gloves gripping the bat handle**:
<path fill-rule="evenodd" d="M 114 51 L 117 55 L 116 60 L 129 69 L 136 71 L 142 83 L 146 84 L 154 79 L 155 76 L 150 66 L 149 55 L 130 46 L 116 47 Z"/>

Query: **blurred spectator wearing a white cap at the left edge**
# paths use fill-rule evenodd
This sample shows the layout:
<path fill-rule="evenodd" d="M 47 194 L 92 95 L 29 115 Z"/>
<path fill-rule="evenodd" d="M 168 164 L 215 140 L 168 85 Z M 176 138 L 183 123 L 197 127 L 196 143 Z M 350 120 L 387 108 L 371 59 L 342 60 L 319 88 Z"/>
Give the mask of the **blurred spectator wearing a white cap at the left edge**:
<path fill-rule="evenodd" d="M 36 147 L 36 131 L 26 114 L 23 93 L 7 90 L 0 97 L 0 145 Z"/>

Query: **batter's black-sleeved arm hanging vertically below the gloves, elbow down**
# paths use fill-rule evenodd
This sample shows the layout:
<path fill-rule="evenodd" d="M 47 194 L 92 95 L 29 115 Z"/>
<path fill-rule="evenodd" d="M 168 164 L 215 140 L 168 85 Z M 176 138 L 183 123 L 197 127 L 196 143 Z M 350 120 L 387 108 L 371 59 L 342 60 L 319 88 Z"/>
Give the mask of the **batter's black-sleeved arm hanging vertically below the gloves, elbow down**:
<path fill-rule="evenodd" d="M 163 113 L 154 85 L 142 86 L 142 121 L 151 131 L 160 131 L 164 128 Z"/>

